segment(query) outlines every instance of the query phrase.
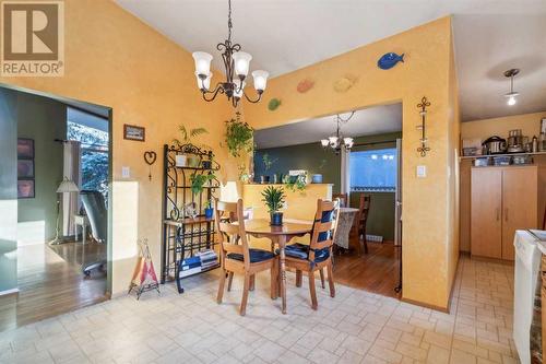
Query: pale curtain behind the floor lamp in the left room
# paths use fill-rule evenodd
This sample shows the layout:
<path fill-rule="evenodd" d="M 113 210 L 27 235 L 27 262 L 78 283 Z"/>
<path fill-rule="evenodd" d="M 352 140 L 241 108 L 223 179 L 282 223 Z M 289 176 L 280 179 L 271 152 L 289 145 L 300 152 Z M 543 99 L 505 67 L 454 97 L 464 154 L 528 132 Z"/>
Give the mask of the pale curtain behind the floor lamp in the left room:
<path fill-rule="evenodd" d="M 81 143 L 75 140 L 64 142 L 63 177 L 72 180 L 78 188 L 82 186 Z M 78 192 L 62 193 L 62 236 L 74 236 L 74 215 L 80 212 L 80 195 Z"/>

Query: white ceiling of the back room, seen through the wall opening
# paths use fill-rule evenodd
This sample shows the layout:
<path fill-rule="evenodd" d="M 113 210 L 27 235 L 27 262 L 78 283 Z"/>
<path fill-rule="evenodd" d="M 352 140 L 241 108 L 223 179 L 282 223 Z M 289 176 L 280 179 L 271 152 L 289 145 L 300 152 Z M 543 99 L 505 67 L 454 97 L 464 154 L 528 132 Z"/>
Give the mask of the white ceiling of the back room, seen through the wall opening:
<path fill-rule="evenodd" d="M 346 119 L 351 114 L 342 114 Z M 334 116 L 310 119 L 282 127 L 260 129 L 254 131 L 254 142 L 258 149 L 286 146 L 305 143 L 318 143 L 335 133 Z M 373 136 L 402 130 L 402 104 L 376 106 L 357 110 L 343 124 L 341 132 L 344 137 Z"/>

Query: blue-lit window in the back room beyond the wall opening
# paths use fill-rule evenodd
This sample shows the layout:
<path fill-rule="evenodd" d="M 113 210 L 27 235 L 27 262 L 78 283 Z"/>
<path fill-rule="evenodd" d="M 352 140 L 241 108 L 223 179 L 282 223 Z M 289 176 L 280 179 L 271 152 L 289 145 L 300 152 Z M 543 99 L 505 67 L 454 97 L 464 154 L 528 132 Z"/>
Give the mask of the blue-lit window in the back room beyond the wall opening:
<path fill-rule="evenodd" d="M 396 149 L 352 152 L 351 191 L 395 191 Z"/>

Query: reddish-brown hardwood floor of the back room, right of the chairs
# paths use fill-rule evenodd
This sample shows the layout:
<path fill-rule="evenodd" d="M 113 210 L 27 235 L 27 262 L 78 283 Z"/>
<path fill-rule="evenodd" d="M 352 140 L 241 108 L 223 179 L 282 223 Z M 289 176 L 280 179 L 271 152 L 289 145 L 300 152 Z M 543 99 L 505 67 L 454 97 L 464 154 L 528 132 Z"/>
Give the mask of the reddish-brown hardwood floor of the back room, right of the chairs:
<path fill-rule="evenodd" d="M 394 292 L 399 284 L 400 248 L 392 242 L 368 242 L 368 254 L 356 251 L 335 255 L 334 280 L 355 289 L 400 298 Z"/>

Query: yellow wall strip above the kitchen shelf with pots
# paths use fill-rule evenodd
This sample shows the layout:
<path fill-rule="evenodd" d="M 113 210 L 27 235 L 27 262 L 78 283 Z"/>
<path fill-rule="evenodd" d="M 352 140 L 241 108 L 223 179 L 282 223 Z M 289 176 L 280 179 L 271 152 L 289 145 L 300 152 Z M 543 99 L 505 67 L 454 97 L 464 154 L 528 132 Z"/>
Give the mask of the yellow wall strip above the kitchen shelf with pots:
<path fill-rule="evenodd" d="M 461 138 L 487 139 L 491 136 L 508 138 L 508 131 L 512 129 L 521 129 L 524 136 L 531 140 L 533 136 L 538 138 L 541 119 L 546 118 L 546 110 L 534 114 L 522 114 L 514 116 L 506 116 L 494 119 L 483 119 L 463 122 L 461 126 Z"/>

